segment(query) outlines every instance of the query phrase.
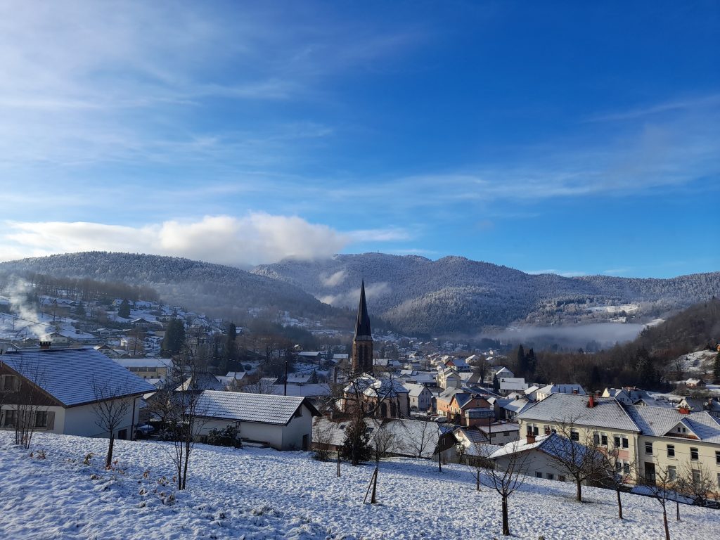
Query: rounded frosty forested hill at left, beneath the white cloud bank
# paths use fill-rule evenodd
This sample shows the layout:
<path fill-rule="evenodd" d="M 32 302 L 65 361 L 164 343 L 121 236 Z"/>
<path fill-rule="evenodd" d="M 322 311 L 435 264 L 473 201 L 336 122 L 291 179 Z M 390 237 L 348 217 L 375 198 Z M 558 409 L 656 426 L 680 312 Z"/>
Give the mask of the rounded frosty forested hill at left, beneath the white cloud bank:
<path fill-rule="evenodd" d="M 318 319 L 336 312 L 292 284 L 179 257 L 91 251 L 1 263 L 0 272 L 145 285 L 156 289 L 166 302 L 236 319 L 246 315 L 248 307 L 275 307 L 296 317 Z"/>

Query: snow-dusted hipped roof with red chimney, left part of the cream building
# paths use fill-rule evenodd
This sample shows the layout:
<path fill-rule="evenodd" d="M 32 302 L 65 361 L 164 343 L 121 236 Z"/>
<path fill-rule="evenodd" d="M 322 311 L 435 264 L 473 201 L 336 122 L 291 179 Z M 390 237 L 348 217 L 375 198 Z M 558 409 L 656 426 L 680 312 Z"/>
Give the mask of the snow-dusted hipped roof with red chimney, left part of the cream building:
<path fill-rule="evenodd" d="M 519 420 L 546 422 L 570 421 L 580 426 L 640 431 L 622 405 L 611 397 L 595 397 L 595 407 L 588 407 L 588 397 L 574 394 L 552 394 L 519 413 Z"/>

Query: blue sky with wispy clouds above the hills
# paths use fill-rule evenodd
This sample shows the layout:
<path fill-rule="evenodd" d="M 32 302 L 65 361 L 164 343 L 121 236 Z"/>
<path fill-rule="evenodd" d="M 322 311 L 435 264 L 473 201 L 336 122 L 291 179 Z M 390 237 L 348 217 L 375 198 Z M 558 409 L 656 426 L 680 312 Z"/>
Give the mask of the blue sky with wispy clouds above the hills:
<path fill-rule="evenodd" d="M 0 258 L 718 271 L 720 4 L 627 4 L 4 3 Z"/>

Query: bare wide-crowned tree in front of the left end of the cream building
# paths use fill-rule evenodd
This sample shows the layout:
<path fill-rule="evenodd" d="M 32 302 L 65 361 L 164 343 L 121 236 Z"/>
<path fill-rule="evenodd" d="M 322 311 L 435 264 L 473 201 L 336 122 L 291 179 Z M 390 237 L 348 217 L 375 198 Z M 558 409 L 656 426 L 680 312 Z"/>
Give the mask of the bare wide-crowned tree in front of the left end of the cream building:
<path fill-rule="evenodd" d="M 603 454 L 593 435 L 581 437 L 577 418 L 556 421 L 557 436 L 544 445 L 557 468 L 575 481 L 575 498 L 582 502 L 582 482 L 603 477 Z"/>

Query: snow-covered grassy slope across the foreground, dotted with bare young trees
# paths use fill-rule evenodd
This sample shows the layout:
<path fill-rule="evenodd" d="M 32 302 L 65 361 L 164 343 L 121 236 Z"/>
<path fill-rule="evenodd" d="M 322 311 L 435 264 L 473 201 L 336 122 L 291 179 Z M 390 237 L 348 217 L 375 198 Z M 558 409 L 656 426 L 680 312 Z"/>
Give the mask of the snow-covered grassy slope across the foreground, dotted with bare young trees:
<path fill-rule="evenodd" d="M 107 441 L 36 435 L 28 451 L 0 433 L 0 538 L 3 539 L 492 539 L 500 499 L 474 490 L 462 465 L 412 459 L 383 462 L 379 504 L 363 505 L 372 467 L 319 463 L 305 452 L 197 445 L 189 489 L 176 492 L 163 443 L 117 441 L 117 467 L 102 469 Z M 45 459 L 38 459 L 40 450 Z M 84 456 L 93 452 L 90 464 Z M 168 485 L 166 482 L 170 480 Z M 551 539 L 661 539 L 657 501 L 527 479 L 510 498 L 513 536 Z M 164 501 L 164 502 L 163 502 Z M 670 516 L 672 539 L 720 538 L 720 510 L 683 506 Z"/>

